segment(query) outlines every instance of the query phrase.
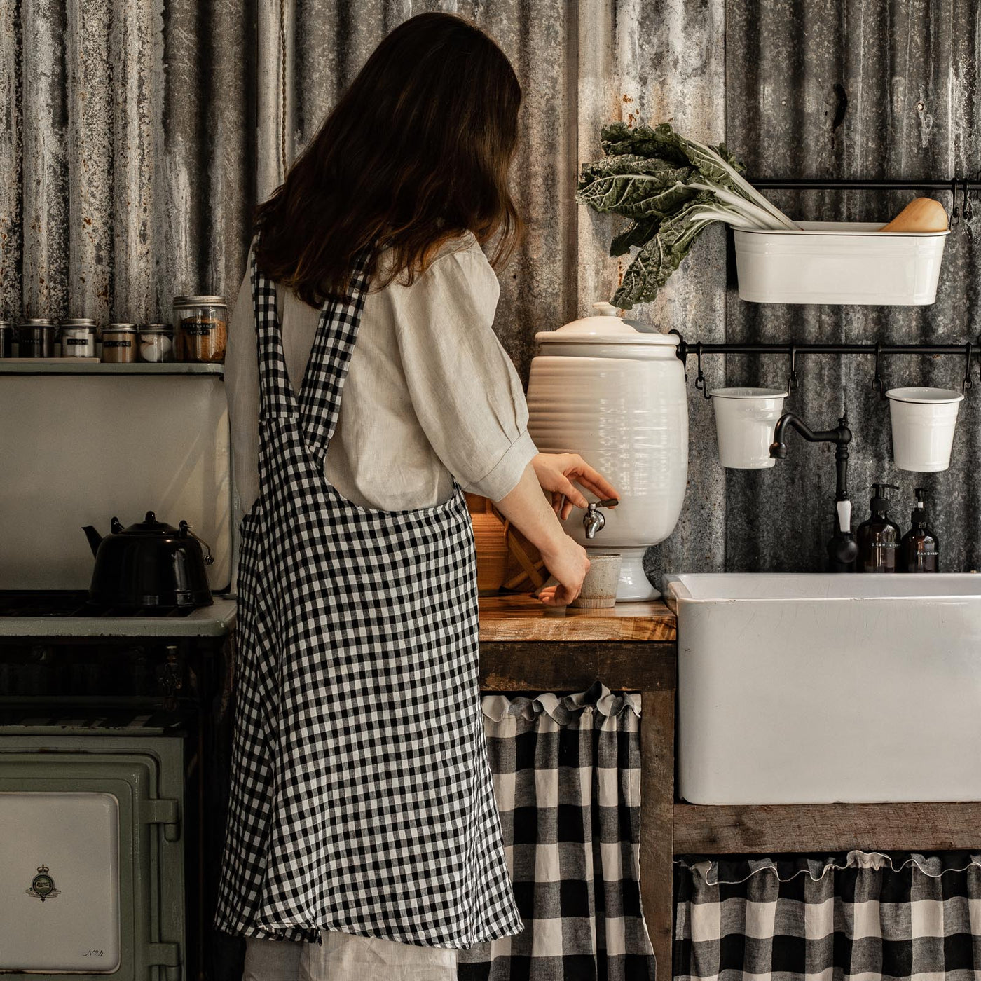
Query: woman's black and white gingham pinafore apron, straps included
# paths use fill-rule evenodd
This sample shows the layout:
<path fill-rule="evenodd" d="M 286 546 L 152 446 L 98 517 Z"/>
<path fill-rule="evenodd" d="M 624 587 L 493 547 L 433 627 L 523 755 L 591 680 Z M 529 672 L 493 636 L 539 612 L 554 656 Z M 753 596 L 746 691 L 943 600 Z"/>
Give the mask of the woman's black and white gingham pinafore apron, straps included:
<path fill-rule="evenodd" d="M 236 719 L 216 925 L 466 948 L 518 933 L 478 686 L 463 493 L 380 511 L 324 473 L 367 280 L 321 311 L 299 395 L 250 257 L 259 499 L 241 524 Z"/>

